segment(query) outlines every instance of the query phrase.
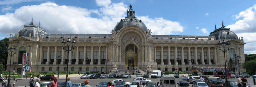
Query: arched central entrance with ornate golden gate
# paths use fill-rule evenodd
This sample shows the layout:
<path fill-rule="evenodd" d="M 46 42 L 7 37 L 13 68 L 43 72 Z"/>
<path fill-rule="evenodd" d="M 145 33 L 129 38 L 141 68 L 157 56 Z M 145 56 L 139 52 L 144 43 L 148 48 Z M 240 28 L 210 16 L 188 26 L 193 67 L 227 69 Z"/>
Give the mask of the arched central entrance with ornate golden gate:
<path fill-rule="evenodd" d="M 138 65 L 138 49 L 134 44 L 128 44 L 125 48 L 125 66 Z"/>

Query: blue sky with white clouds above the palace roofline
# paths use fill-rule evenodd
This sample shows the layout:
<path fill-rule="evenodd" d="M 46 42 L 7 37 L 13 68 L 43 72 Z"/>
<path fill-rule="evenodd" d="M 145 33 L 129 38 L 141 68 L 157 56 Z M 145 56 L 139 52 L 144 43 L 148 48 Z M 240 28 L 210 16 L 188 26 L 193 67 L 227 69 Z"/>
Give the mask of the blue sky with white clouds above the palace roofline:
<path fill-rule="evenodd" d="M 153 34 L 208 36 L 223 21 L 256 53 L 256 0 L 0 0 L 0 39 L 32 18 L 48 34 L 111 34 L 130 4 Z"/>

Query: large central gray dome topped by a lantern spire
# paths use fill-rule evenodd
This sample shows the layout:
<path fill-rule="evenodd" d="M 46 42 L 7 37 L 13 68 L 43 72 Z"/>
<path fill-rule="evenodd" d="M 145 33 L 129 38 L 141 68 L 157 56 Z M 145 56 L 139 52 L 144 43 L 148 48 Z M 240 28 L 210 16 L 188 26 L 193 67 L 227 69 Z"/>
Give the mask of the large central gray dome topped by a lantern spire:
<path fill-rule="evenodd" d="M 130 4 L 130 9 L 126 12 L 127 17 L 125 19 L 121 19 L 120 22 L 116 24 L 115 31 L 118 32 L 121 28 L 128 26 L 128 25 L 136 25 L 142 28 L 145 32 L 148 32 L 148 28 L 146 25 L 139 19 L 137 19 L 134 14 L 135 11 L 132 10 L 132 4 Z"/>

